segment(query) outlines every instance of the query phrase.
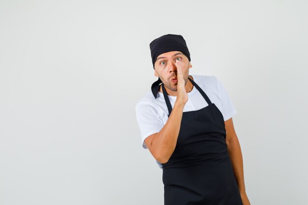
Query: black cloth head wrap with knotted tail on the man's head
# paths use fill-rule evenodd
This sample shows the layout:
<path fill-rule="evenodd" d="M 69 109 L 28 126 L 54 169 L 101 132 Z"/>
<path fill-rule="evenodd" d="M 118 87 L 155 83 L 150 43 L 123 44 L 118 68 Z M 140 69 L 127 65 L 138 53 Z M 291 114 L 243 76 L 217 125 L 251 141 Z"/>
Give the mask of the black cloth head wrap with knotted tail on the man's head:
<path fill-rule="evenodd" d="M 162 35 L 159 38 L 154 39 L 150 43 L 150 50 L 151 50 L 153 68 L 154 68 L 154 64 L 156 62 L 157 57 L 160 54 L 167 53 L 170 51 L 180 51 L 190 61 L 190 54 L 189 54 L 189 51 L 186 45 L 186 41 L 182 35 L 176 35 L 176 34 Z M 152 93 L 155 98 L 157 97 L 157 92 L 158 92 L 160 83 L 162 83 L 162 81 L 158 77 L 158 80 L 155 81 L 151 86 Z"/>

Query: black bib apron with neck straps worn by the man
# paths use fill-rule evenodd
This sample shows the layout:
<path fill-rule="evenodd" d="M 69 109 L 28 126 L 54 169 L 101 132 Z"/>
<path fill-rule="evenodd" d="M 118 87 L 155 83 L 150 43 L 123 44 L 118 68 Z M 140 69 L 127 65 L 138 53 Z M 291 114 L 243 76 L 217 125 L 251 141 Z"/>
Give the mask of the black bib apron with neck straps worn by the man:
<path fill-rule="evenodd" d="M 226 144 L 224 119 L 190 78 L 208 106 L 183 112 L 177 145 L 162 164 L 164 205 L 243 205 Z M 162 84 L 169 115 L 172 106 Z"/>

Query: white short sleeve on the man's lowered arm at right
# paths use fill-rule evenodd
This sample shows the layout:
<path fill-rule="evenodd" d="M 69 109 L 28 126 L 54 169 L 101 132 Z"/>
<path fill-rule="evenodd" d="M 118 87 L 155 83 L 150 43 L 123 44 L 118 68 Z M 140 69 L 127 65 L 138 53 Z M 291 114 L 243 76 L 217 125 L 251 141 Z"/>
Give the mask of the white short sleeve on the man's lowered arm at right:
<path fill-rule="evenodd" d="M 216 83 L 221 97 L 223 119 L 224 121 L 226 121 L 230 119 L 232 116 L 234 116 L 237 113 L 237 111 L 227 93 L 226 88 L 223 86 L 223 84 L 217 77 L 216 77 Z"/>

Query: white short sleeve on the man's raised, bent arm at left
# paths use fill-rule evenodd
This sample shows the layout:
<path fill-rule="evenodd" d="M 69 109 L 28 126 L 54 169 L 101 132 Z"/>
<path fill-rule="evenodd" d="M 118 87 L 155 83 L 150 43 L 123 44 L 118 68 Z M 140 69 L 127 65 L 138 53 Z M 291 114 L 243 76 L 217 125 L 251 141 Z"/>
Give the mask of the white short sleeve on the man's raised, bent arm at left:
<path fill-rule="evenodd" d="M 142 147 L 147 149 L 144 140 L 150 135 L 159 132 L 164 124 L 159 116 L 158 108 L 149 102 L 138 102 L 136 107 L 136 118 L 141 133 Z"/>

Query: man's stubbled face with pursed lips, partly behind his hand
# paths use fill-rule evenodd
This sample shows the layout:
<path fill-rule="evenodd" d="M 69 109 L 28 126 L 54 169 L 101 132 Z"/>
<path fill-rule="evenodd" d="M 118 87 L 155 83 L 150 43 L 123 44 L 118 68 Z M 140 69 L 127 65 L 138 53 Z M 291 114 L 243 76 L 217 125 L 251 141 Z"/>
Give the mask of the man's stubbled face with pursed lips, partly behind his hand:
<path fill-rule="evenodd" d="M 178 82 L 172 82 L 172 78 L 178 78 L 176 60 L 179 60 L 182 66 L 185 85 L 188 81 L 188 70 L 192 67 L 188 58 L 180 51 L 170 51 L 160 54 L 154 63 L 154 75 L 159 77 L 166 88 L 177 91 Z"/>

